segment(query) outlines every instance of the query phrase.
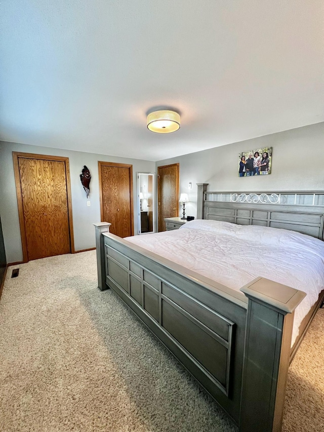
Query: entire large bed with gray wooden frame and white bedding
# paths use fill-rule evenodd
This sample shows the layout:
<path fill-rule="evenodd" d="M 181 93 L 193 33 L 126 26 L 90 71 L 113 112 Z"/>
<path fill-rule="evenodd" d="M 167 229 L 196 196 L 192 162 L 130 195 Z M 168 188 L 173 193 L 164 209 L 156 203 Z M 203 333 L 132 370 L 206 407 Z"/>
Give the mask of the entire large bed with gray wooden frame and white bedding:
<path fill-rule="evenodd" d="M 131 307 L 240 431 L 280 430 L 289 362 L 324 295 L 324 192 L 220 193 L 201 183 L 197 219 L 206 222 L 128 240 L 95 224 L 98 286 Z M 208 238 L 198 263 L 192 236 Z"/>

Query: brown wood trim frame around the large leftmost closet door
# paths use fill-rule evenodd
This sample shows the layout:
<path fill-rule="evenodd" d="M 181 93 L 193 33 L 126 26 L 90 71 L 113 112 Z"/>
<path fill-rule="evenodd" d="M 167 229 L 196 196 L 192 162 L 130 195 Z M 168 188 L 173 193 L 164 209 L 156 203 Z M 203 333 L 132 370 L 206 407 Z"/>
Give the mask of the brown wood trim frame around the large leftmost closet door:
<path fill-rule="evenodd" d="M 15 183 L 17 192 L 17 203 L 18 203 L 18 214 L 19 214 L 19 225 L 20 225 L 20 235 L 21 235 L 21 246 L 23 262 L 28 262 L 28 252 L 27 252 L 27 239 L 25 230 L 25 219 L 21 192 L 21 181 L 19 173 L 19 158 L 25 159 L 43 159 L 45 161 L 54 162 L 64 162 L 65 166 L 65 179 L 66 179 L 66 197 L 67 197 L 67 214 L 68 214 L 68 224 L 69 224 L 69 234 L 70 234 L 70 251 L 74 254 L 74 236 L 73 236 L 73 219 L 72 219 L 72 199 L 71 199 L 71 182 L 70 182 L 70 168 L 69 168 L 69 158 L 64 158 L 63 156 L 49 156 L 47 154 L 34 154 L 34 153 L 23 153 L 19 151 L 12 152 L 14 161 L 14 173 L 15 173 Z"/>

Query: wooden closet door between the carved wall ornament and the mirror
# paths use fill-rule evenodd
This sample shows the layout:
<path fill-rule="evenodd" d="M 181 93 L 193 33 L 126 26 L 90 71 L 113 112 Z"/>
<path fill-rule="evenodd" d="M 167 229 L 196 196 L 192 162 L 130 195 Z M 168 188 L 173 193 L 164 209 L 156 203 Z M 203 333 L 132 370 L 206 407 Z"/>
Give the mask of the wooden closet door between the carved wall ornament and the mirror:
<path fill-rule="evenodd" d="M 101 221 L 119 237 L 134 235 L 133 166 L 98 162 Z"/>

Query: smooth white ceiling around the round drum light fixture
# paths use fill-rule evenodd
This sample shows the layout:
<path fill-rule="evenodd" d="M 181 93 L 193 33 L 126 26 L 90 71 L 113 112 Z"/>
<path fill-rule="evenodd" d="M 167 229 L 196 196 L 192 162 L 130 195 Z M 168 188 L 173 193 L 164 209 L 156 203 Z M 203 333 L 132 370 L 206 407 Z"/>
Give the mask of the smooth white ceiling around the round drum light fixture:
<path fill-rule="evenodd" d="M 5 0 L 0 139 L 158 161 L 324 121 L 322 0 Z M 181 129 L 146 128 L 173 107 Z"/>

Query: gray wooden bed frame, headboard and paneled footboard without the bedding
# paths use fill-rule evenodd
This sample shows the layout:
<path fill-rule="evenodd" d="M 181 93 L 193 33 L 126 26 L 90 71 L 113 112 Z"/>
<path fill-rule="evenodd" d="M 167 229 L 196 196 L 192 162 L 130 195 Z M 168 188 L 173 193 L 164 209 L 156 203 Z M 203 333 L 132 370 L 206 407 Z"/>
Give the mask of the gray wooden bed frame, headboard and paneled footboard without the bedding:
<path fill-rule="evenodd" d="M 197 218 L 297 230 L 323 240 L 324 192 L 207 192 Z M 113 289 L 241 432 L 280 431 L 294 310 L 305 293 L 265 278 L 234 291 L 96 227 L 98 287 Z M 324 287 L 323 287 L 324 288 Z"/>

